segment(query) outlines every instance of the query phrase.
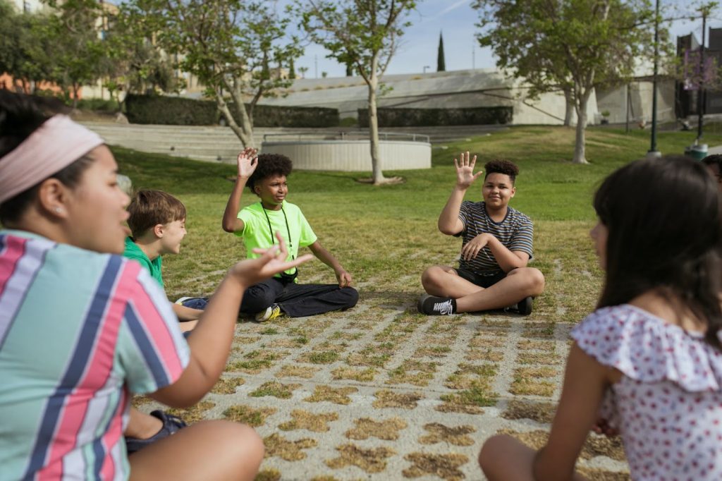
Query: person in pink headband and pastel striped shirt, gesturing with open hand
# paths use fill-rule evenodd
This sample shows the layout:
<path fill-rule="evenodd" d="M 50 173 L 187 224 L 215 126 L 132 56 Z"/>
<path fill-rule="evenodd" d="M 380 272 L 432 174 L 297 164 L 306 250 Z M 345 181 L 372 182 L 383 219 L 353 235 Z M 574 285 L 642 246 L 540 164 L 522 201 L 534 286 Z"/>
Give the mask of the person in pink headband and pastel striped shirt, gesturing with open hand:
<path fill-rule="evenodd" d="M 0 466 L 4 479 L 251 480 L 261 439 L 203 421 L 126 455 L 131 393 L 196 404 L 227 360 L 243 292 L 286 262 L 230 269 L 188 341 L 157 283 L 123 259 L 128 196 L 97 134 L 0 90 Z"/>

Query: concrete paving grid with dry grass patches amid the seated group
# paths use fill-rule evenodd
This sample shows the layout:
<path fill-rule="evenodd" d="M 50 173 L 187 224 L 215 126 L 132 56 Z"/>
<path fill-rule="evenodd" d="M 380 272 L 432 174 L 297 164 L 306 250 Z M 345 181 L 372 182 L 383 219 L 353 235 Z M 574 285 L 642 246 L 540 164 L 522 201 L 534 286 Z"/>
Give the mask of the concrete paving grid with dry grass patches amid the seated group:
<path fill-rule="evenodd" d="M 174 412 L 255 426 L 261 480 L 479 480 L 493 434 L 544 441 L 571 328 L 506 313 L 422 316 L 409 295 L 366 293 L 343 313 L 238 324 L 219 384 Z M 623 457 L 618 441 L 591 436 L 579 467 L 627 480 Z"/>

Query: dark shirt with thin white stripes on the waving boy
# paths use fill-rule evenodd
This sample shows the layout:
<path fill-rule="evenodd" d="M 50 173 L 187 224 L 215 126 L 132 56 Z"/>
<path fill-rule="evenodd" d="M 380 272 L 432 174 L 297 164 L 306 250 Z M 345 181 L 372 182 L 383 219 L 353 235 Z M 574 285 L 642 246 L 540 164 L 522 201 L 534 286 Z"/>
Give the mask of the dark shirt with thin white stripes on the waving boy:
<path fill-rule="evenodd" d="M 507 207 L 504 220 L 494 222 L 487 214 L 485 202 L 464 201 L 461 203 L 458 218 L 464 223 L 464 230 L 457 234 L 464 238 L 462 247 L 477 235 L 490 233 L 510 251 L 526 252 L 531 259 L 534 225 L 529 217 L 518 210 Z M 494 274 L 502 270 L 488 246 L 479 251 L 475 259 L 469 261 L 459 259 L 458 267 L 481 275 Z"/>

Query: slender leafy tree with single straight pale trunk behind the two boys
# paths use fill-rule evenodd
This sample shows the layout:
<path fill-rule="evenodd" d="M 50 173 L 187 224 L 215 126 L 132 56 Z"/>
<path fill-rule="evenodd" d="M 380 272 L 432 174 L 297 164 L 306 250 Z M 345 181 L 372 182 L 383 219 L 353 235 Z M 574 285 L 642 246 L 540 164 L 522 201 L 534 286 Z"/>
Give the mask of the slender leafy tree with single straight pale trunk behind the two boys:
<path fill-rule="evenodd" d="M 297 0 L 301 25 L 310 38 L 331 52 L 329 57 L 351 63 L 368 86 L 368 116 L 373 183 L 388 181 L 378 156 L 376 98 L 379 77 L 396 51 L 404 22 L 416 6 L 413 0 Z"/>

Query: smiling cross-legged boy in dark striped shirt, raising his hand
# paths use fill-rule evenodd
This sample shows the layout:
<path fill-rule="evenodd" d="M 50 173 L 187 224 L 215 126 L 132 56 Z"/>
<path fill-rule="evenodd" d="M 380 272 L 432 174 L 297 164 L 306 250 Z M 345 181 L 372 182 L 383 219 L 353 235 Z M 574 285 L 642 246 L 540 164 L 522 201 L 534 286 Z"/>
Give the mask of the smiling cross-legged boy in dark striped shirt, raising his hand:
<path fill-rule="evenodd" d="M 464 194 L 484 171 L 474 174 L 473 158 L 462 152 L 456 165 L 456 186 L 438 220 L 439 230 L 463 238 L 458 269 L 432 266 L 422 274 L 427 295 L 419 312 L 451 315 L 510 308 L 531 313 L 532 298 L 544 290 L 544 275 L 527 267 L 532 256 L 534 226 L 526 215 L 509 207 L 516 194 L 519 169 L 508 160 L 484 165 L 483 202 L 464 201 Z"/>

